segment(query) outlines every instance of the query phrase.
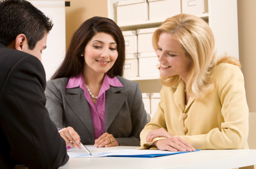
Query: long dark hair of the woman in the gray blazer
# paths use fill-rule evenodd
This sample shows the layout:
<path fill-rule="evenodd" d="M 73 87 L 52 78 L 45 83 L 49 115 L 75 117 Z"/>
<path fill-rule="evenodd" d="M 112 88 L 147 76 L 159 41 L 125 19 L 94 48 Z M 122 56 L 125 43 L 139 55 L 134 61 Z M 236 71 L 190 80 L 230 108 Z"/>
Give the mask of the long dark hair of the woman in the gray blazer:
<path fill-rule="evenodd" d="M 81 57 L 81 54 L 84 53 L 84 48 L 87 43 L 92 40 L 98 32 L 112 35 L 117 44 L 118 57 L 113 67 L 107 71 L 108 76 L 122 76 L 123 64 L 125 62 L 125 40 L 122 31 L 113 20 L 96 16 L 86 20 L 75 31 L 64 61 L 51 79 L 72 77 L 80 74 L 84 68 L 84 58 Z"/>

